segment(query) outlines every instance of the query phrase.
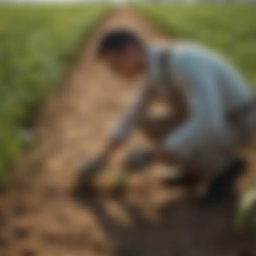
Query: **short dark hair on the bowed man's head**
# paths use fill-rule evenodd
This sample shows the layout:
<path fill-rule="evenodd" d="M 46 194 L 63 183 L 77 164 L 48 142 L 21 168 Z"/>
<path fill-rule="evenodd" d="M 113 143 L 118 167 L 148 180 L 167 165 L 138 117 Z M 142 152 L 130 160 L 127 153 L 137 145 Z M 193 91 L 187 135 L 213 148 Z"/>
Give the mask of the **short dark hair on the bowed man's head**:
<path fill-rule="evenodd" d="M 113 30 L 107 32 L 100 41 L 97 49 L 97 55 L 102 57 L 106 52 L 122 52 L 127 43 L 136 44 L 138 47 L 144 48 L 142 39 L 137 33 L 129 30 Z"/>

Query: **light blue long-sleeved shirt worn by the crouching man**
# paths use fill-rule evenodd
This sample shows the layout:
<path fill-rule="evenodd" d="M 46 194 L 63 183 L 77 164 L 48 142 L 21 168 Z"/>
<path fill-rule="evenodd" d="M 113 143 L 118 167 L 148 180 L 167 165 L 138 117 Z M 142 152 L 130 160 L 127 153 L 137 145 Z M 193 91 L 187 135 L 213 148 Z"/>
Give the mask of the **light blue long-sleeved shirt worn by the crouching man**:
<path fill-rule="evenodd" d="M 159 53 L 164 47 L 166 44 L 149 47 L 150 82 L 135 92 L 112 137 L 127 138 L 152 100 L 161 98 L 166 101 L 165 90 L 168 87 L 161 84 L 158 63 Z M 168 47 L 170 73 L 174 81 L 181 81 L 182 97 L 189 115 L 182 126 L 166 136 L 162 145 L 173 154 L 187 158 L 204 146 L 220 147 L 228 143 L 226 113 L 253 97 L 246 82 L 222 57 L 210 50 L 194 44 L 172 44 Z M 174 82 L 172 86 L 177 84 Z"/>

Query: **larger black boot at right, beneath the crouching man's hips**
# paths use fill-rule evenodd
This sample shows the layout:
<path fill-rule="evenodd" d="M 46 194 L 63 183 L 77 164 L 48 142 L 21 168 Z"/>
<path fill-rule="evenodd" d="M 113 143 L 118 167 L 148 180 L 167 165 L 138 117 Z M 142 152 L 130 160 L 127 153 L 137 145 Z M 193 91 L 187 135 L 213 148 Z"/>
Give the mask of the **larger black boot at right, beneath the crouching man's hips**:
<path fill-rule="evenodd" d="M 202 202 L 221 202 L 228 197 L 232 192 L 236 180 L 246 169 L 246 160 L 234 159 L 227 170 L 214 178 L 210 183 L 207 193 L 201 198 Z"/>

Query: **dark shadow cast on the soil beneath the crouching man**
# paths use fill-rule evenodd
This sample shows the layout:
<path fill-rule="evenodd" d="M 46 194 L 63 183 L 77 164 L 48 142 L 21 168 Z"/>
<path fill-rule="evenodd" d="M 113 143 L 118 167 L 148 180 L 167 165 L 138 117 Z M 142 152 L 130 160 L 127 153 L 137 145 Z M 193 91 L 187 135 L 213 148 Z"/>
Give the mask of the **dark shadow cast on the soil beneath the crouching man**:
<path fill-rule="evenodd" d="M 168 203 L 161 208 L 157 223 L 143 218 L 138 208 L 123 198 L 115 200 L 132 217 L 132 226 L 119 224 L 97 197 L 79 197 L 79 202 L 92 210 L 114 243 L 114 256 L 256 255 L 255 231 L 234 228 L 234 196 L 218 205 L 191 200 Z"/>

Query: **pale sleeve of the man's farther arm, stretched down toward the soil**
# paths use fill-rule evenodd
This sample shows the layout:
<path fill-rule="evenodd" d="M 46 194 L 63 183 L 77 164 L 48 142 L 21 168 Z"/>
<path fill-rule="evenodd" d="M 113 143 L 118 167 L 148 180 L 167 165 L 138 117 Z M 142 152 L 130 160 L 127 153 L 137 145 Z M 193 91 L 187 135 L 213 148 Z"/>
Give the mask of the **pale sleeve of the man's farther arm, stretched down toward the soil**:
<path fill-rule="evenodd" d="M 153 88 L 150 82 L 146 82 L 135 92 L 127 110 L 123 113 L 116 126 L 112 130 L 111 138 L 124 140 L 137 126 L 145 114 L 153 97 Z"/>

